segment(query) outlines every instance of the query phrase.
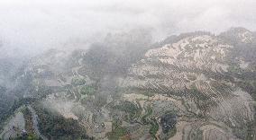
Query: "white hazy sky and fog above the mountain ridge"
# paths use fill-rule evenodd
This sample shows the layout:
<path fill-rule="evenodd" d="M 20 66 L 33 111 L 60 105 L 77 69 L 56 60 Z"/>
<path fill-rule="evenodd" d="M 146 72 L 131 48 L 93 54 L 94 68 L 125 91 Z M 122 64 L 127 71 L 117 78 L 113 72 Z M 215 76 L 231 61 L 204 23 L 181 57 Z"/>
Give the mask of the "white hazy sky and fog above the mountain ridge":
<path fill-rule="evenodd" d="M 0 0 L 2 53 L 79 46 L 133 28 L 163 39 L 233 26 L 256 31 L 256 0 Z"/>

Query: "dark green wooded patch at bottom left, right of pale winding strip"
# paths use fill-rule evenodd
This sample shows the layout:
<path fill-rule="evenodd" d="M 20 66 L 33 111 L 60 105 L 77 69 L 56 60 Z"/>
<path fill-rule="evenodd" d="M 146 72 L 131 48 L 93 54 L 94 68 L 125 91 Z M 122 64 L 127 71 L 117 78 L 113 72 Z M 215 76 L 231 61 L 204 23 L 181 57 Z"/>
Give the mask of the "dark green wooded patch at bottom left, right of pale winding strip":
<path fill-rule="evenodd" d="M 40 103 L 35 105 L 39 116 L 40 130 L 50 139 L 89 139 L 86 129 L 72 118 L 63 118 L 58 112 L 44 109 Z"/>

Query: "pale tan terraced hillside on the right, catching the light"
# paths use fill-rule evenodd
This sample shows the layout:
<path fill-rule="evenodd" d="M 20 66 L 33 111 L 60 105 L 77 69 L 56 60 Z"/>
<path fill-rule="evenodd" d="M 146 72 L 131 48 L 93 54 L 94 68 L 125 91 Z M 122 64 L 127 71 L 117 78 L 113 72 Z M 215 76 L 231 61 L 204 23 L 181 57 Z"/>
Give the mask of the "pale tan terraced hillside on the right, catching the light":
<path fill-rule="evenodd" d="M 239 43 L 221 38 L 230 32 Z M 255 59 L 251 54 L 234 53 L 238 49 L 255 52 L 253 43 L 255 37 L 245 29 L 232 29 L 221 36 L 189 35 L 147 51 L 129 69 L 121 86 L 133 89 L 131 92 L 151 91 L 184 102 L 186 114 L 195 114 L 178 118 L 184 139 L 253 139 L 255 132 L 248 130 L 255 130 L 255 99 L 251 97 L 255 91 L 246 92 L 241 82 L 255 79 Z"/>

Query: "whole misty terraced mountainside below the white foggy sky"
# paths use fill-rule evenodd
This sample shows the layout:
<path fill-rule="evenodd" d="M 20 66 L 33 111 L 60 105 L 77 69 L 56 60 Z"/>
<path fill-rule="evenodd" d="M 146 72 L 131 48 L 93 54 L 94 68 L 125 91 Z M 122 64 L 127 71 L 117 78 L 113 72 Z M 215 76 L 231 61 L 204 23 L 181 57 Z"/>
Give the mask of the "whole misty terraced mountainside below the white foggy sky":
<path fill-rule="evenodd" d="M 255 33 L 233 28 L 154 44 L 131 31 L 85 50 L 50 49 L 1 88 L 15 97 L 1 121 L 27 105 L 49 139 L 255 139 L 255 45 Z"/>

